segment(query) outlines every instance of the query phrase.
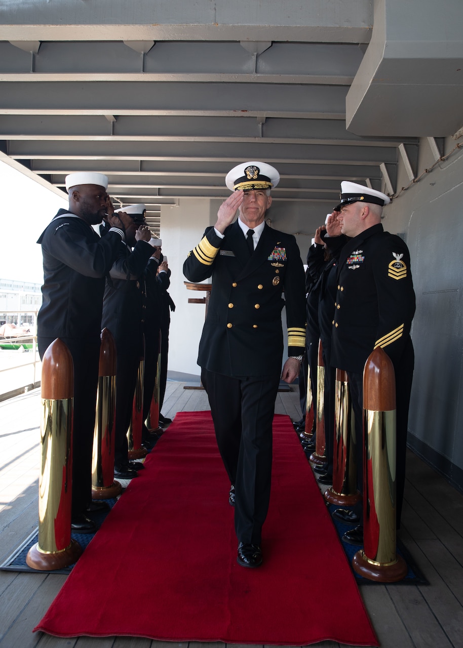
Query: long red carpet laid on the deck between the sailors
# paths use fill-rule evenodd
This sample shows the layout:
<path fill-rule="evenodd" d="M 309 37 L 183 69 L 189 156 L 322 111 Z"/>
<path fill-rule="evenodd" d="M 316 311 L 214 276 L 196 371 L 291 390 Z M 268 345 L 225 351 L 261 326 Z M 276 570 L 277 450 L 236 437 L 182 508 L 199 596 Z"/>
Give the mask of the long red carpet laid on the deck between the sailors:
<path fill-rule="evenodd" d="M 274 419 L 263 565 L 236 562 L 210 413 L 178 413 L 34 630 L 379 645 L 291 421 Z"/>

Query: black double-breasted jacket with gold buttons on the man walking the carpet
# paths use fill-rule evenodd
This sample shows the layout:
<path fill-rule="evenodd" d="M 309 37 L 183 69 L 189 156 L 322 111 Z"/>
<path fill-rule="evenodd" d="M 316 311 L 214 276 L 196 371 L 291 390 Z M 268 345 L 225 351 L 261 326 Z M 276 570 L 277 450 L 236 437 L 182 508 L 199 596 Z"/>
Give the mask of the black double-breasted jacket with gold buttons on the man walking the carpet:
<path fill-rule="evenodd" d="M 224 238 L 209 227 L 185 260 L 184 274 L 195 283 L 212 275 L 198 354 L 204 369 L 228 376 L 281 371 L 283 306 L 288 354 L 305 351 L 304 273 L 292 235 L 266 225 L 250 256 L 237 221 Z"/>

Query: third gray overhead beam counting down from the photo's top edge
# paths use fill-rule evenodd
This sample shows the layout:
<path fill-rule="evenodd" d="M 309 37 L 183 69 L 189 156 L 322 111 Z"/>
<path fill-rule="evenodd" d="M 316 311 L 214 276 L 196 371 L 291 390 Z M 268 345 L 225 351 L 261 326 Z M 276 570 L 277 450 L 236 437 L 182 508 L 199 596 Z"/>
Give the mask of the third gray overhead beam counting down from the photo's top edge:
<path fill-rule="evenodd" d="M 31 75 L 33 76 L 33 75 Z M 226 110 L 333 113 L 344 111 L 347 87 L 300 84 L 215 84 L 139 82 L 1 82 L 0 108 L 7 110 L 99 109 Z"/>

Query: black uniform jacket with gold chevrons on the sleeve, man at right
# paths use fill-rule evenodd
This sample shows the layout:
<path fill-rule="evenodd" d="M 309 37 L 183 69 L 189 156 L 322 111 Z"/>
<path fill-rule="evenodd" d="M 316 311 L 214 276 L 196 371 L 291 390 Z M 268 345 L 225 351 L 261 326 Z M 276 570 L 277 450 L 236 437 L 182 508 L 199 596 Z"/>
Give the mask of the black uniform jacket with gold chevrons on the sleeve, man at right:
<path fill-rule="evenodd" d="M 397 366 L 415 312 L 409 249 L 381 224 L 346 240 L 338 264 L 331 364 L 362 373 L 373 349 L 382 347 Z"/>

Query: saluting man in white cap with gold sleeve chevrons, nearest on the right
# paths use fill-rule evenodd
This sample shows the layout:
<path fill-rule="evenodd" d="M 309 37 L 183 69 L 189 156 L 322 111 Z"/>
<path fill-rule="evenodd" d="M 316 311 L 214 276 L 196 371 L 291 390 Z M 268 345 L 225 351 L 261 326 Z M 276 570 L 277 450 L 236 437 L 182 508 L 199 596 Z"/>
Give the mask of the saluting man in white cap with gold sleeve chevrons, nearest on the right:
<path fill-rule="evenodd" d="M 396 375 L 396 516 L 397 528 L 405 483 L 405 452 L 414 353 L 410 327 L 415 294 L 410 254 L 405 242 L 383 230 L 381 214 L 390 198 L 357 183 L 341 183 L 340 213 L 327 222 L 329 246 L 336 236 L 346 238 L 338 260 L 338 285 L 331 340 L 331 365 L 349 376 L 355 414 L 355 435 L 362 439 L 363 369 L 368 356 L 381 347 Z M 357 443 L 357 487 L 362 492 L 362 442 Z M 335 511 L 336 517 L 355 524 L 359 511 Z M 351 544 L 362 544 L 363 527 L 344 534 Z"/>

